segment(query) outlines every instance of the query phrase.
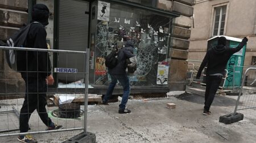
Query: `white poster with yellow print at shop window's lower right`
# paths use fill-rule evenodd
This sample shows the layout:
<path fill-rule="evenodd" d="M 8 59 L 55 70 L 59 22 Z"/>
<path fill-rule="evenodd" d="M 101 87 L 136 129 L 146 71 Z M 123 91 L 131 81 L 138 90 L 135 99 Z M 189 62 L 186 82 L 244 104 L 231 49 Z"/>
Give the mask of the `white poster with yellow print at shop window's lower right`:
<path fill-rule="evenodd" d="M 159 62 L 156 84 L 168 84 L 168 72 L 169 72 L 168 62 Z"/>

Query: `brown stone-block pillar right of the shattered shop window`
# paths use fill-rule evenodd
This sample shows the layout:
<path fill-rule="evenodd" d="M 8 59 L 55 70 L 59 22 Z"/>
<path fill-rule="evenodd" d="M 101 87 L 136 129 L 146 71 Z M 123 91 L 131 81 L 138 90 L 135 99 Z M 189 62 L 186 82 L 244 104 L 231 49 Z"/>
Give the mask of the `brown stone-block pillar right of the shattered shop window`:
<path fill-rule="evenodd" d="M 188 68 L 188 47 L 191 36 L 193 0 L 158 0 L 158 8 L 180 12 L 174 19 L 172 28 L 172 47 L 170 48 L 170 70 L 168 86 L 170 90 L 185 90 Z"/>

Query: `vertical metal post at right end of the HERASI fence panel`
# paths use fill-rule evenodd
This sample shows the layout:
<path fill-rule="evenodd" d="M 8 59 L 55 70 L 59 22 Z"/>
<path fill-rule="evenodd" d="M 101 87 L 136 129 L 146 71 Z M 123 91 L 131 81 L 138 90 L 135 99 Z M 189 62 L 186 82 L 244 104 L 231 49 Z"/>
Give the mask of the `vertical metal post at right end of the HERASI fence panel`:
<path fill-rule="evenodd" d="M 89 85 L 89 55 L 90 49 L 86 49 L 85 61 L 85 94 L 84 94 L 84 133 L 87 131 L 87 110 L 88 110 L 88 85 Z"/>

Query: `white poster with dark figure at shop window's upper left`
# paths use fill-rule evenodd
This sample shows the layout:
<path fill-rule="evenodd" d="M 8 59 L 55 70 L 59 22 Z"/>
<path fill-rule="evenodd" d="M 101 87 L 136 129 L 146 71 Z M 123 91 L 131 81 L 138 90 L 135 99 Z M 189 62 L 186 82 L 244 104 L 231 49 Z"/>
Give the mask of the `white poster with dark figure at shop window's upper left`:
<path fill-rule="evenodd" d="M 110 3 L 98 1 L 98 20 L 109 21 Z"/>

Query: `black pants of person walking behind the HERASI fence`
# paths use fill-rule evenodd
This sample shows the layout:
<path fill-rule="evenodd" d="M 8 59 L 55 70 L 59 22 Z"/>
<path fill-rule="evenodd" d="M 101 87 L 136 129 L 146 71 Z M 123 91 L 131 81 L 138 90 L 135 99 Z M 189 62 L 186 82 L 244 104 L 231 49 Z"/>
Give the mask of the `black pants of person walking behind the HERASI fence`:
<path fill-rule="evenodd" d="M 20 132 L 28 131 L 28 120 L 32 112 L 38 111 L 40 119 L 48 127 L 52 124 L 46 111 L 46 91 L 47 85 L 45 79 L 23 78 L 26 83 L 26 96 L 19 115 Z"/>

